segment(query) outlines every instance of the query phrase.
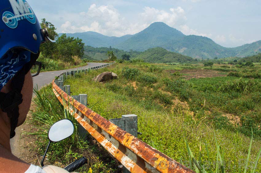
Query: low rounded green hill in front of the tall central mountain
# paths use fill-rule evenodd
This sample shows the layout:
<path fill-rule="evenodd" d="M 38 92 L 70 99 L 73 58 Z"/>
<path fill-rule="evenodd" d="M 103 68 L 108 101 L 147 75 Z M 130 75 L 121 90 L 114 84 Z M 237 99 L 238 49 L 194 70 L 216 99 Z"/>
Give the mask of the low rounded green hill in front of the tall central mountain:
<path fill-rule="evenodd" d="M 136 58 L 143 59 L 144 62 L 150 63 L 171 63 L 171 62 L 192 62 L 195 59 L 184 56 L 176 52 L 169 52 L 161 47 L 150 48 Z"/>

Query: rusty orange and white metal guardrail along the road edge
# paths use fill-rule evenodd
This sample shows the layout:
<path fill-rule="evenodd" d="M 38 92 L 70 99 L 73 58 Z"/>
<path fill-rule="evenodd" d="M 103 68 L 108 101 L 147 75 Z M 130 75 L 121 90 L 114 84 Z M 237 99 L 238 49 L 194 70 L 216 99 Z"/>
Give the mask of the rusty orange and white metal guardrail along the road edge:
<path fill-rule="evenodd" d="M 130 172 L 194 172 L 74 100 L 55 80 L 52 84 L 60 103 Z"/>

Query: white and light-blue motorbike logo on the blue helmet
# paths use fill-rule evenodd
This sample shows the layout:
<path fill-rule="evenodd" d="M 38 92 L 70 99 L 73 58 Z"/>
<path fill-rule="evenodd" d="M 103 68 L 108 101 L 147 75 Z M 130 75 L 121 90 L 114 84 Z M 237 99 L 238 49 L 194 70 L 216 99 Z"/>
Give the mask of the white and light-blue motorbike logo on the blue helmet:
<path fill-rule="evenodd" d="M 3 13 L 2 20 L 9 28 L 16 28 L 18 21 L 26 19 L 32 24 L 36 23 L 33 10 L 25 0 L 9 0 L 14 13 L 6 11 Z"/>

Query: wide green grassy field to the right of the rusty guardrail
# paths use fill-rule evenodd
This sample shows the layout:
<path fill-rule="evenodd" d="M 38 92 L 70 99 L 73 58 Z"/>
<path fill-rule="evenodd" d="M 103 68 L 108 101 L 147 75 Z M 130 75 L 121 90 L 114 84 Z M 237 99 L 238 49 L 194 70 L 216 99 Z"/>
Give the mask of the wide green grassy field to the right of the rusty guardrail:
<path fill-rule="evenodd" d="M 188 69 L 201 73 L 188 80 L 183 77 L 191 75 L 185 73 Z M 201 158 L 207 171 L 215 171 L 217 146 L 220 146 L 219 150 L 224 152 L 224 162 L 222 157 L 218 159 L 220 166 L 224 163 L 225 171 L 240 172 L 245 169 L 251 126 L 254 141 L 249 169 L 261 147 L 261 81 L 226 75 L 259 69 L 258 65 L 239 68 L 123 63 L 68 78 L 66 85 L 71 85 L 73 95 L 88 94 L 90 106 L 99 101 L 92 110 L 107 119 L 138 115 L 138 131 L 142 132 L 138 137 L 186 166 L 190 167 L 185 143 L 188 141 L 195 158 Z M 206 74 L 214 72 L 213 77 L 202 78 L 202 70 Z M 92 81 L 104 71 L 118 74 L 119 79 L 106 83 Z M 256 171 L 260 171 L 260 163 L 259 160 Z"/>

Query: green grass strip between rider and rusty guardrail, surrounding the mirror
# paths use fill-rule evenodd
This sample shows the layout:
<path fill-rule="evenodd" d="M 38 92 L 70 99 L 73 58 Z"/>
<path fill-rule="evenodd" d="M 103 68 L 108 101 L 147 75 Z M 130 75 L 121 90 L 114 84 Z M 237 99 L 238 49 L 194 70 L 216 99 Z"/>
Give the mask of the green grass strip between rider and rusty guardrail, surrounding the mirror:
<path fill-rule="evenodd" d="M 115 172 L 119 171 L 118 162 L 111 159 L 108 152 L 99 145 L 96 145 L 94 139 L 87 135 L 84 140 L 78 134 L 76 120 L 61 106 L 53 93 L 52 86 L 48 85 L 40 91 L 34 89 L 36 97 L 33 102 L 37 108 L 33 110 L 32 117 L 27 121 L 34 129 L 33 132 L 25 134 L 36 136 L 35 150 L 39 159 L 45 152 L 49 142 L 47 134 L 50 126 L 63 118 L 69 118 L 74 123 L 75 131 L 71 137 L 57 143 L 51 143 L 45 159 L 45 165 L 56 165 L 65 167 L 82 156 L 88 159 L 88 163 L 76 170 L 76 172 Z"/>

